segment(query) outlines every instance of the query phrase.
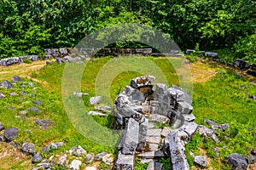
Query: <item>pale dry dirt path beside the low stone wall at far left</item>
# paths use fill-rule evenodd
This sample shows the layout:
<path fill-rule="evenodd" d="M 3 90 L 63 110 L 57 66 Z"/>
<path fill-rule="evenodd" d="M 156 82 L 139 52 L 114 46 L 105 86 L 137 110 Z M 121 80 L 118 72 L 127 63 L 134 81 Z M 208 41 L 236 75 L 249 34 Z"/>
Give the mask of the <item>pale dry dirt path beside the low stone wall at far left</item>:
<path fill-rule="evenodd" d="M 14 75 L 31 78 L 32 72 L 37 72 L 44 65 L 46 65 L 46 60 L 34 61 L 32 64 L 21 63 L 19 65 L 0 66 L 0 81 L 10 81 Z"/>

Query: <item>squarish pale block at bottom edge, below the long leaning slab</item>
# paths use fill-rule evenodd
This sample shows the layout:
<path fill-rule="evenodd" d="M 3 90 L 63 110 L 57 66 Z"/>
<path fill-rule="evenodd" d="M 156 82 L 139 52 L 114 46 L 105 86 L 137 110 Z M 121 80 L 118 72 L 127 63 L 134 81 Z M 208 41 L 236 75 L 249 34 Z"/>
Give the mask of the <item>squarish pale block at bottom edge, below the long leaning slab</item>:
<path fill-rule="evenodd" d="M 119 151 L 118 159 L 114 165 L 116 170 L 133 170 L 134 169 L 134 155 L 124 155 Z"/>

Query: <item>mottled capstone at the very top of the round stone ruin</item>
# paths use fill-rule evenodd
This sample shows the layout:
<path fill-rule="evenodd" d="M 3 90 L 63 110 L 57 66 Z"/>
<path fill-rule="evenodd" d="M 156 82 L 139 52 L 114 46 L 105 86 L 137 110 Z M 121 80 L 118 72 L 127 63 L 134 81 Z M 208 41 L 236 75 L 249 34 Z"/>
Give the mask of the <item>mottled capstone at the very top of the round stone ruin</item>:
<path fill-rule="evenodd" d="M 141 88 L 144 86 L 154 86 L 154 82 L 155 82 L 155 77 L 153 76 L 136 77 L 131 80 L 131 87 Z"/>

